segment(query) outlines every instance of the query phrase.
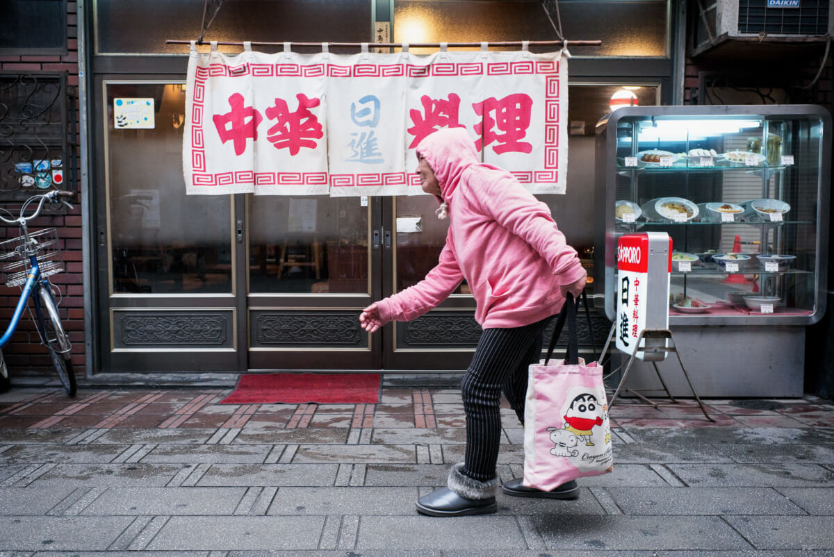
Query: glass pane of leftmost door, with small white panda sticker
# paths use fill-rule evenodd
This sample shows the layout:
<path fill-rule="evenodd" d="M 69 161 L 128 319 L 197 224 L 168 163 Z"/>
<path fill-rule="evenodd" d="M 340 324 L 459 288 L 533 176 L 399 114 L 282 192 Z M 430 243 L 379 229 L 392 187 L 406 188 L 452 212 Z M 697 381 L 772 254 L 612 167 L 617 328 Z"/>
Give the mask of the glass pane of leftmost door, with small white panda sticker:
<path fill-rule="evenodd" d="M 185 194 L 185 86 L 106 87 L 113 293 L 231 292 L 231 198 Z M 142 127 L 125 123 L 118 113 L 120 106 L 135 99 L 151 107 L 145 116 L 149 123 Z M 114 118 L 119 118 L 118 127 Z"/>

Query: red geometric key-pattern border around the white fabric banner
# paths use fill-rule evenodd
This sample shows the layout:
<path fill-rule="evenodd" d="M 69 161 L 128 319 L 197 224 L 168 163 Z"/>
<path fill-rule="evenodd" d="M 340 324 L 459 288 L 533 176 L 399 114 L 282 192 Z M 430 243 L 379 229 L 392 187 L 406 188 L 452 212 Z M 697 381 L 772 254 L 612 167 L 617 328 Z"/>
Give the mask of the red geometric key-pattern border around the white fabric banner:
<path fill-rule="evenodd" d="M 486 68 L 485 68 L 486 66 Z M 199 186 L 225 185 L 228 183 L 254 183 L 257 185 L 324 185 L 331 187 L 403 185 L 416 186 L 420 177 L 413 173 L 205 173 L 205 150 L 203 144 L 203 103 L 205 103 L 205 82 L 210 77 L 306 77 L 328 76 L 330 78 L 379 78 L 401 77 L 427 78 L 473 76 L 473 75 L 521 75 L 546 74 L 545 78 L 545 168 L 525 172 L 514 172 L 521 183 L 555 183 L 559 166 L 559 61 L 512 62 L 512 63 L 435 63 L 425 66 L 417 64 L 254 64 L 239 66 L 210 64 L 208 68 L 196 68 L 191 113 L 191 160 L 193 184 Z"/>

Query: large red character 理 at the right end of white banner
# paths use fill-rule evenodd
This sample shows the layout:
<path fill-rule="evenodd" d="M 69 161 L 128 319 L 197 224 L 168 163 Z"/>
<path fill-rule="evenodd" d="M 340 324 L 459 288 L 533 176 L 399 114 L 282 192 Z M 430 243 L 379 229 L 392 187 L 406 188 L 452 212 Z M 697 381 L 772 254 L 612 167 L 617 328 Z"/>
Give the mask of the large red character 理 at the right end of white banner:
<path fill-rule="evenodd" d="M 475 143 L 475 148 L 481 148 L 492 142 L 492 150 L 497 154 L 515 151 L 516 153 L 530 153 L 533 145 L 520 141 L 527 135 L 527 128 L 530 128 L 530 108 L 533 106 L 533 99 L 525 93 L 507 95 L 505 98 L 496 100 L 495 97 L 487 98 L 483 103 L 473 103 L 475 113 L 483 116 L 483 122 L 475 125 L 475 132 L 483 136 Z M 491 113 L 495 113 L 492 118 Z M 495 133 L 494 128 L 504 133 Z"/>

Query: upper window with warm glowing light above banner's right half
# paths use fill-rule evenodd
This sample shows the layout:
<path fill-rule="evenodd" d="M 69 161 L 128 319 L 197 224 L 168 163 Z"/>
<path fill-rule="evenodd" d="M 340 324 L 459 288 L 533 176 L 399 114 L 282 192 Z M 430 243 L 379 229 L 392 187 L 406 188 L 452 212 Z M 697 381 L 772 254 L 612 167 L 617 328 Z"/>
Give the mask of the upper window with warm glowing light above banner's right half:
<path fill-rule="evenodd" d="M 656 57 L 667 54 L 666 0 L 561 0 L 569 41 L 601 40 L 571 49 L 579 57 Z M 554 18 L 555 20 L 555 18 Z M 465 22 L 465 23 L 462 23 Z M 540 2 L 406 0 L 394 2 L 394 40 L 408 43 L 554 40 Z M 535 48 L 531 48 L 535 50 Z M 552 48 L 539 48 L 552 50 Z M 418 52 L 416 49 L 414 52 Z"/>

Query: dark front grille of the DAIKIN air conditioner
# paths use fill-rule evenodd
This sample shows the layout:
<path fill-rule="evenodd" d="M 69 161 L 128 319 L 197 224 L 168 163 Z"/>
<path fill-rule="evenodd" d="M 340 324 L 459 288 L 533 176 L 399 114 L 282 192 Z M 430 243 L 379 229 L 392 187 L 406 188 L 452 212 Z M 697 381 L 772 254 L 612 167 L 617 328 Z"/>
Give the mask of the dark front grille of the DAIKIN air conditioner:
<path fill-rule="evenodd" d="M 739 0 L 739 33 L 825 35 L 829 0 L 801 0 L 799 8 L 767 8 L 767 0 Z"/>

